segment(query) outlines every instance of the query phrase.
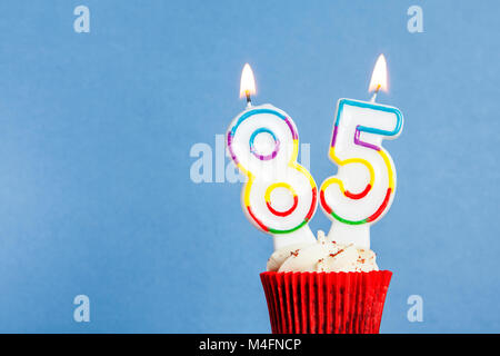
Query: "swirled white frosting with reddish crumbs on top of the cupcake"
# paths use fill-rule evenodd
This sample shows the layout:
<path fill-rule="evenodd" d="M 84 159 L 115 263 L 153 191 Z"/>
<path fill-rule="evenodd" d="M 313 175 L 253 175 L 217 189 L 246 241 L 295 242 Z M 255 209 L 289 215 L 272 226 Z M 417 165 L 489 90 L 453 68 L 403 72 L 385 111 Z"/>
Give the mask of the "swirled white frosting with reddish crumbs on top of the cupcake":
<path fill-rule="evenodd" d="M 328 240 L 318 231 L 313 244 L 294 244 L 274 251 L 269 271 L 371 271 L 379 270 L 371 249 L 356 248 Z"/>

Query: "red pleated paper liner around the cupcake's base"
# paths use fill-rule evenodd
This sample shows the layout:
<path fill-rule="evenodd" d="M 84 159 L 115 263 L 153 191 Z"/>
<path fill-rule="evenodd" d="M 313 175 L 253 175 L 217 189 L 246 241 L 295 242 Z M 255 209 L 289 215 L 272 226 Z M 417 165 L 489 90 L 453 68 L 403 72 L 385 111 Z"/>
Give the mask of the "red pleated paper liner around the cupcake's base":
<path fill-rule="evenodd" d="M 378 334 L 392 273 L 260 274 L 273 334 Z"/>

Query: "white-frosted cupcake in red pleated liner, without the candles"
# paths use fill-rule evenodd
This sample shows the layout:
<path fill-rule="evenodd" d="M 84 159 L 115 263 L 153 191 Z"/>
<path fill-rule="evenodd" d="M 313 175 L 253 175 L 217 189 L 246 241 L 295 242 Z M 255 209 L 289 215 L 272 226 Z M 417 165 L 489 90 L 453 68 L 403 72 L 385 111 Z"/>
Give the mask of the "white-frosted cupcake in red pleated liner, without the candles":
<path fill-rule="evenodd" d="M 273 334 L 378 334 L 392 273 L 376 254 L 328 240 L 276 250 L 260 275 Z"/>

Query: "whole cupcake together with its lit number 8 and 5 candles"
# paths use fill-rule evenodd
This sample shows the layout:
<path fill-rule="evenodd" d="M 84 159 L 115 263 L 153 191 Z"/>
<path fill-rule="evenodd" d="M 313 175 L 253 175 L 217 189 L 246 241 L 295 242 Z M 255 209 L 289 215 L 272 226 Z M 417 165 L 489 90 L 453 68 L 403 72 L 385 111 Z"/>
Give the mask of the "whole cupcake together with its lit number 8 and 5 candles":
<path fill-rule="evenodd" d="M 383 58 L 380 62 L 381 72 L 387 71 Z M 247 108 L 229 126 L 226 144 L 248 178 L 242 209 L 274 243 L 268 270 L 260 275 L 272 332 L 379 333 L 392 273 L 379 270 L 369 228 L 394 198 L 396 169 L 381 144 L 401 132 L 401 112 L 376 105 L 374 97 L 370 102 L 340 99 L 329 148 L 339 170 L 318 191 L 298 162 L 293 120 L 271 105 L 253 107 L 253 92 L 246 65 L 240 97 L 247 98 Z M 318 199 L 332 221 L 328 238 L 322 231 L 316 238 L 308 225 Z"/>

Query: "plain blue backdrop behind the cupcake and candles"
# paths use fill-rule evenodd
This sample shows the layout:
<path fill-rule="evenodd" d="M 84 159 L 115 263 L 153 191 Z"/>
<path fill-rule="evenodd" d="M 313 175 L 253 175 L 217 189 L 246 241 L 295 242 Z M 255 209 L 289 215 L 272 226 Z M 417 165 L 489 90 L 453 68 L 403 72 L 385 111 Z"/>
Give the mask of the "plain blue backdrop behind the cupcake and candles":
<path fill-rule="evenodd" d="M 90 33 L 73 9 L 90 8 Z M 423 33 L 407 10 L 423 8 Z M 394 273 L 381 332 L 499 332 L 498 1 L 2 1 L 0 332 L 268 333 L 272 251 L 240 184 L 194 184 L 242 110 L 272 102 L 311 144 L 318 182 L 341 97 L 368 99 L 377 56 L 404 113 L 372 228 Z M 227 160 L 226 164 L 229 164 Z M 213 164 L 214 165 L 214 164 Z M 214 167 L 213 167 L 214 169 Z M 311 227 L 329 229 L 318 210 Z M 91 322 L 73 320 L 88 295 Z M 407 298 L 423 298 L 409 323 Z"/>

